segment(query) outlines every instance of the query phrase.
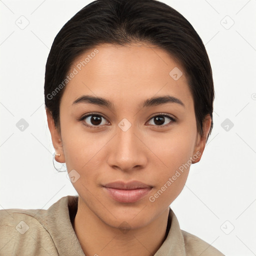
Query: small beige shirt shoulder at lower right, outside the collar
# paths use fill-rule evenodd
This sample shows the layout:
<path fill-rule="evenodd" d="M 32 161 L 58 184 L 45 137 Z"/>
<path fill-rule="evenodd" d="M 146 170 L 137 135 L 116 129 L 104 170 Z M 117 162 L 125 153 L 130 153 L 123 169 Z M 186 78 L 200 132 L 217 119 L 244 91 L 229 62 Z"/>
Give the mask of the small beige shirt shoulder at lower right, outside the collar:
<path fill-rule="evenodd" d="M 203 256 L 224 256 L 219 250 L 203 241 L 199 237 L 181 230 L 184 238 L 185 250 L 187 256 L 203 255 Z"/>

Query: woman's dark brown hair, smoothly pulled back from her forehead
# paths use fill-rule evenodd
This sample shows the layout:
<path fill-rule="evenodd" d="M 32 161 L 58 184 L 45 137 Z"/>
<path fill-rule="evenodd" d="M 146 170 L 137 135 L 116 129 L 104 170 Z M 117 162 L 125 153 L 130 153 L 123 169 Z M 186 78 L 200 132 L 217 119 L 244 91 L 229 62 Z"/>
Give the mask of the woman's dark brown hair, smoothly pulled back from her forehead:
<path fill-rule="evenodd" d="M 178 11 L 157 0 L 95 0 L 60 29 L 47 58 L 44 83 L 45 106 L 59 132 L 63 81 L 73 61 L 101 43 L 132 42 L 156 45 L 182 65 L 193 96 L 197 131 L 202 136 L 203 120 L 210 114 L 209 136 L 214 88 L 207 52 L 192 25 Z"/>

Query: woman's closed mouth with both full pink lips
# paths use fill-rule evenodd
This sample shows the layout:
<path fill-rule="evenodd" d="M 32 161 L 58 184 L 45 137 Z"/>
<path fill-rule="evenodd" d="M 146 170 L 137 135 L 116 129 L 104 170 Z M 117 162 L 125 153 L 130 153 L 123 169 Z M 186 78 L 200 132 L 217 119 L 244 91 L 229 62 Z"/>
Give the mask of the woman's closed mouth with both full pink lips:
<path fill-rule="evenodd" d="M 116 181 L 104 184 L 103 189 L 115 201 L 128 203 L 142 199 L 151 191 L 152 186 L 140 181 Z"/>

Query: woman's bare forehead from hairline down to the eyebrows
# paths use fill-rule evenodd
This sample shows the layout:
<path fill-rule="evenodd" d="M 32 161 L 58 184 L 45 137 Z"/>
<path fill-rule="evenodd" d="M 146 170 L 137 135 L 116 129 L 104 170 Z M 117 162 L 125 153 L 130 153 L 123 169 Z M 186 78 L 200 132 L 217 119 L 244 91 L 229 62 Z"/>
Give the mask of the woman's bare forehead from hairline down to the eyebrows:
<path fill-rule="evenodd" d="M 95 46 L 75 59 L 71 72 L 75 75 L 61 99 L 68 104 L 88 93 L 113 100 L 120 95 L 139 100 L 157 93 L 191 97 L 182 66 L 164 49 L 151 44 Z"/>

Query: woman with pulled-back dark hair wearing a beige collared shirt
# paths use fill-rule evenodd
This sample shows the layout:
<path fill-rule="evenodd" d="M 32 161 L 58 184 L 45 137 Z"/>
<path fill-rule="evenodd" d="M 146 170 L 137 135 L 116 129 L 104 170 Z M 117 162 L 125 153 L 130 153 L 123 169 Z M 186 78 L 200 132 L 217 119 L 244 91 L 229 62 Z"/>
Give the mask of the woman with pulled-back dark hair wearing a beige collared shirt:
<path fill-rule="evenodd" d="M 223 255 L 180 230 L 169 207 L 213 125 L 209 59 L 180 13 L 91 2 L 56 35 L 44 96 L 78 196 L 0 210 L 1 255 Z"/>

